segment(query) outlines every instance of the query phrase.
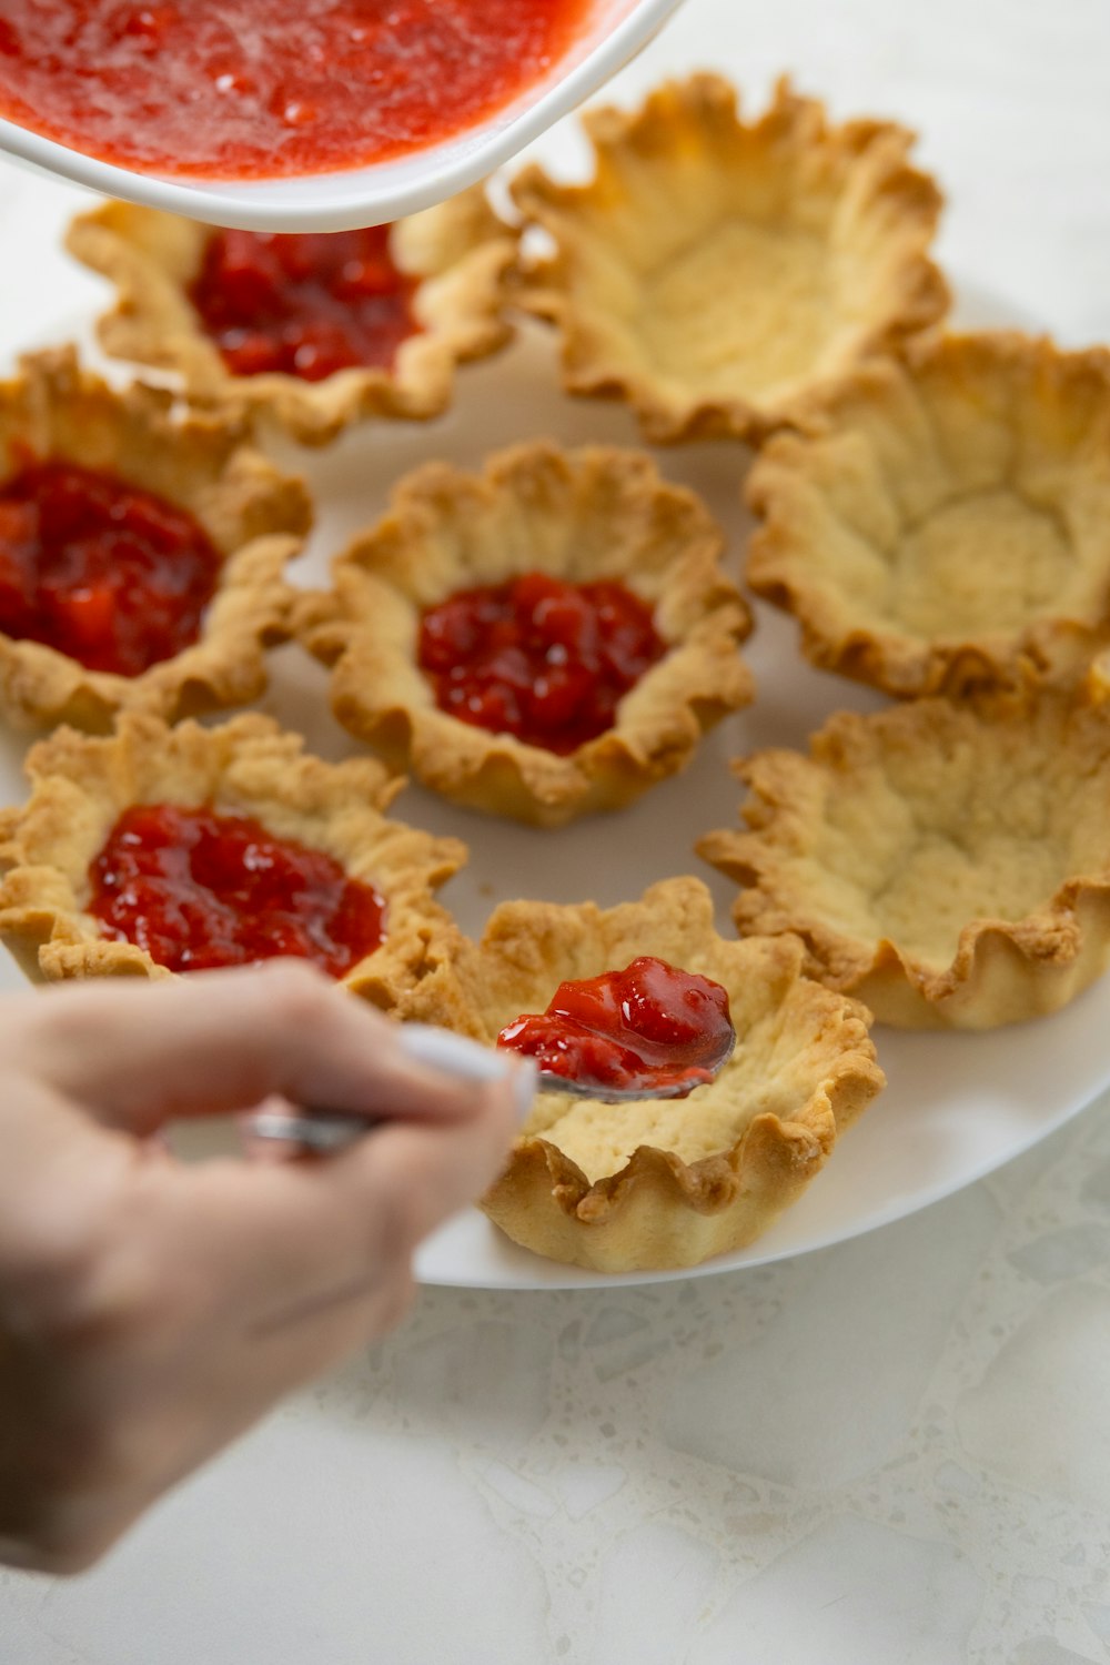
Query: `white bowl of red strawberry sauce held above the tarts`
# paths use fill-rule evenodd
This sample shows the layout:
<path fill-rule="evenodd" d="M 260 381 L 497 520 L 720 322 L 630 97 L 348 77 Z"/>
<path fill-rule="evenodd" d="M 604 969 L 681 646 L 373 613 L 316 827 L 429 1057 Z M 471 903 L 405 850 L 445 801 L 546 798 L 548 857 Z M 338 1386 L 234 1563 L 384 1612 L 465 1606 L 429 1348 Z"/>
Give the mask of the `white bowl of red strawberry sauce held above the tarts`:
<path fill-rule="evenodd" d="M 381 225 L 508 162 L 681 3 L 8 0 L 0 152 L 206 225 Z"/>

